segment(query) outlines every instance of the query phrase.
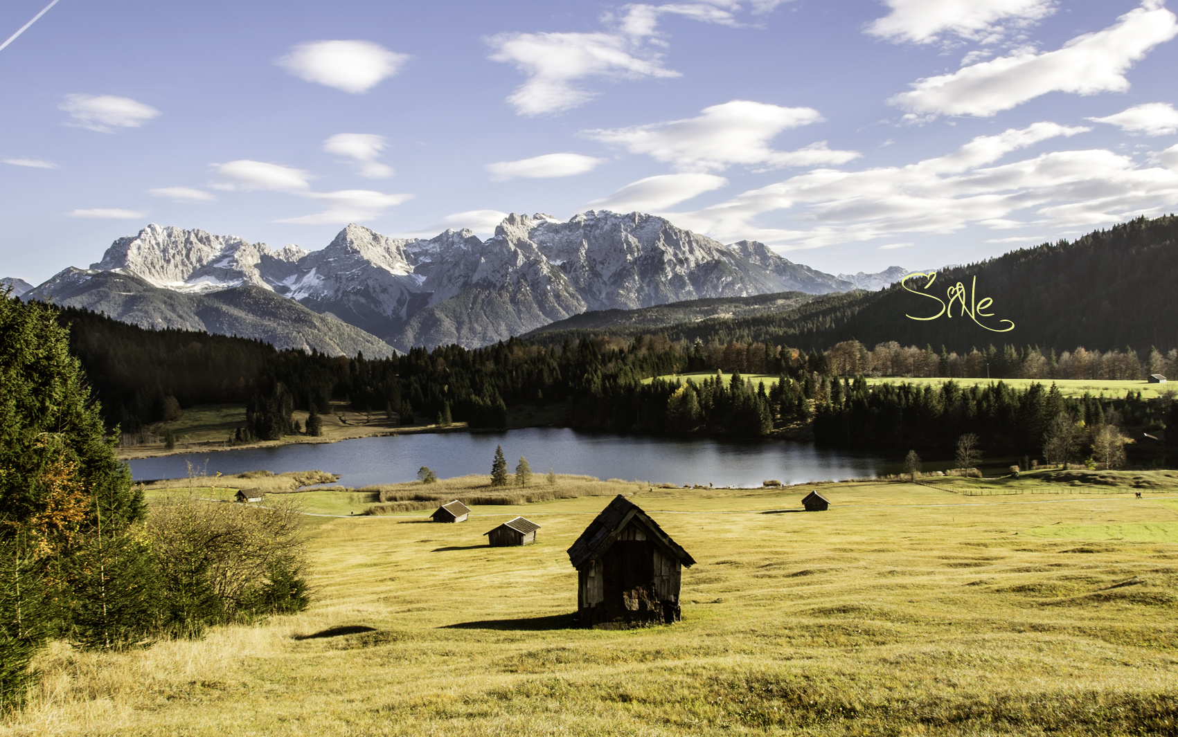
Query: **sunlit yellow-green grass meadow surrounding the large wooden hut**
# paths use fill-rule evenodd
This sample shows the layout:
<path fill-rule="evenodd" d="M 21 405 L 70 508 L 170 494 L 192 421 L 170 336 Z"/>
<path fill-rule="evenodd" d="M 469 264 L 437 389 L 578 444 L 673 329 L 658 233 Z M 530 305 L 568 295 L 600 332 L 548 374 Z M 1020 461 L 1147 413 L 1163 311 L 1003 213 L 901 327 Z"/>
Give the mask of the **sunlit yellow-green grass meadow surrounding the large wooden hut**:
<path fill-rule="evenodd" d="M 1176 735 L 1166 478 L 822 484 L 826 512 L 800 511 L 813 485 L 598 483 L 699 562 L 683 622 L 629 631 L 571 618 L 565 550 L 608 496 L 307 517 L 307 611 L 138 652 L 54 643 L 0 735 Z M 537 543 L 488 547 L 516 514 Z"/>

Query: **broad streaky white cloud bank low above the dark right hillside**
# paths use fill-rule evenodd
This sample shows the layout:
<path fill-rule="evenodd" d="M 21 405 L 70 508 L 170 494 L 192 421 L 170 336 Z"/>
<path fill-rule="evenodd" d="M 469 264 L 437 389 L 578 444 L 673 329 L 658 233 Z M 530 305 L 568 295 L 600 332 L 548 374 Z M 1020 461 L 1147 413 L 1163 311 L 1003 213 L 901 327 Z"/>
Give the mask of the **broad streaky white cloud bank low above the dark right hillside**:
<path fill-rule="evenodd" d="M 1038 122 L 907 166 L 816 170 L 702 210 L 666 214 L 721 240 L 756 238 L 803 248 L 953 233 L 968 225 L 1092 227 L 1178 206 L 1178 146 L 1159 154 L 1173 170 L 1139 166 L 1104 150 L 1054 151 L 994 165 L 1020 148 L 1085 130 Z M 793 227 L 761 225 L 763 217 L 788 211 Z"/>

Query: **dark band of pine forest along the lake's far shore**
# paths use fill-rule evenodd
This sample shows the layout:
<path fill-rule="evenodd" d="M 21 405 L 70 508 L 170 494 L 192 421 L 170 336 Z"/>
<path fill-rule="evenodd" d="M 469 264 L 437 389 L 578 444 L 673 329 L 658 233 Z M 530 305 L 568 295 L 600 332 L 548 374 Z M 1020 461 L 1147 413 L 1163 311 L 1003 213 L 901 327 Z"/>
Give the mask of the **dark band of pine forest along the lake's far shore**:
<path fill-rule="evenodd" d="M 842 341 L 825 352 L 802 352 L 765 343 L 708 345 L 638 336 L 561 345 L 511 339 L 477 350 L 415 348 L 368 360 L 277 351 L 206 333 L 146 331 L 79 310 L 61 311 L 59 320 L 72 326 L 71 348 L 108 425 L 124 431 L 165 419 L 173 407 L 210 403 L 246 405 L 239 439 L 299 432 L 291 421 L 294 409 L 327 412 L 332 400 L 403 424 L 465 421 L 471 427 L 504 426 L 509 405 L 563 403 L 564 423 L 587 430 L 737 438 L 796 437 L 812 429 L 825 444 L 941 456 L 960 436 L 974 433 L 987 451 L 1038 458 L 1045 427 L 1065 413 L 1080 427 L 1068 454 L 1081 459 L 1092 453 L 1092 433 L 1105 425 L 1138 433 L 1178 425 L 1178 403 L 1169 397 L 1068 399 L 1050 386 L 1063 378 L 1144 379 L 1145 372 L 1178 368 L 1176 351 L 1164 357 L 1076 348 L 1044 357 L 1034 346 L 1007 345 L 961 357 L 894 343 L 868 350 Z M 1045 383 L 1013 389 L 952 380 L 987 372 L 995 380 Z M 696 376 L 666 378 L 682 373 Z M 748 374 L 777 380 L 754 381 Z M 868 389 L 865 374 L 948 380 Z"/>

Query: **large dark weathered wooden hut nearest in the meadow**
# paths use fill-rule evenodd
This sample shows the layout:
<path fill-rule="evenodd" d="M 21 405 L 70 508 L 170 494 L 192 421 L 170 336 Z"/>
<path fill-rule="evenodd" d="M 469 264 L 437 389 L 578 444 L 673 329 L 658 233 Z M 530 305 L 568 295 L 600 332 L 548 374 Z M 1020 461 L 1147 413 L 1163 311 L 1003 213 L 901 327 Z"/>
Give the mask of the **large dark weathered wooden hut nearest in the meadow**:
<path fill-rule="evenodd" d="M 679 622 L 682 566 L 695 560 L 636 504 L 618 494 L 569 549 L 577 612 L 587 628 Z"/>

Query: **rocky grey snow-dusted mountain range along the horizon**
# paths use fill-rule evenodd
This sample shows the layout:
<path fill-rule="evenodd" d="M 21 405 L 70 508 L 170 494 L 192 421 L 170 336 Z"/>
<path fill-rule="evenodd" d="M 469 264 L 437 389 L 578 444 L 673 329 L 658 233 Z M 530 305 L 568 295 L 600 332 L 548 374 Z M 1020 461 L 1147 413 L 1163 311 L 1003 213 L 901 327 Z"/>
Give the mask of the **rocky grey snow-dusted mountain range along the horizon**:
<path fill-rule="evenodd" d="M 487 240 L 469 230 L 403 239 L 349 225 L 310 252 L 148 225 L 88 270 L 66 268 L 22 297 L 145 327 L 376 356 L 488 345 L 587 311 L 879 288 L 893 271 L 904 273 L 835 277 L 757 241 L 726 246 L 660 217 L 590 211 L 567 221 L 511 214 Z"/>

